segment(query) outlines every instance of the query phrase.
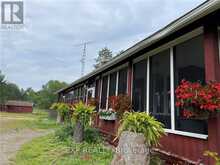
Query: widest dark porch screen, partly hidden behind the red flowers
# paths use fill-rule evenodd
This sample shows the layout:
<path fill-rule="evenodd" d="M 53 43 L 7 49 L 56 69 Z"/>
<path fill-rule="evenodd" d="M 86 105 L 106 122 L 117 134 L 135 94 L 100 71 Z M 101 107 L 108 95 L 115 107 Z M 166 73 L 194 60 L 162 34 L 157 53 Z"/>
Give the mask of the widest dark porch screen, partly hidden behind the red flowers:
<path fill-rule="evenodd" d="M 175 87 L 182 79 L 205 83 L 203 36 L 195 37 L 174 47 Z M 186 119 L 175 110 L 175 128 L 180 131 L 207 134 L 207 121 Z"/>

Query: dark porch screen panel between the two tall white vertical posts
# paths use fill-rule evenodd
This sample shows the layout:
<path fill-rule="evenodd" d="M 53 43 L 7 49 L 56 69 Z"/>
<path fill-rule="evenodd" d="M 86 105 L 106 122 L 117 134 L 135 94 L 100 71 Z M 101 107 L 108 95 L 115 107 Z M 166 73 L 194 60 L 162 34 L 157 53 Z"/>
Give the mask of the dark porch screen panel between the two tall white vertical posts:
<path fill-rule="evenodd" d="M 150 113 L 165 127 L 171 128 L 170 51 L 150 58 Z"/>

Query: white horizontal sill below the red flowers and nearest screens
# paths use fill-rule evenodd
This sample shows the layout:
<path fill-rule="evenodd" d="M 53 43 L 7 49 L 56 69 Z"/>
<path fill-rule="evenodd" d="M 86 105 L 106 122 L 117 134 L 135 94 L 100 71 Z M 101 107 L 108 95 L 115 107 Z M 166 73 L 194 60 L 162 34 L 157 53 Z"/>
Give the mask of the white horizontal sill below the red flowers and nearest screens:
<path fill-rule="evenodd" d="M 198 139 L 208 139 L 208 135 L 204 134 L 197 134 L 197 133 L 191 133 L 191 132 L 184 132 L 184 131 L 177 131 L 177 130 L 171 130 L 171 129 L 165 129 L 166 133 L 176 134 L 176 135 L 182 135 L 182 136 L 188 136 Z"/>

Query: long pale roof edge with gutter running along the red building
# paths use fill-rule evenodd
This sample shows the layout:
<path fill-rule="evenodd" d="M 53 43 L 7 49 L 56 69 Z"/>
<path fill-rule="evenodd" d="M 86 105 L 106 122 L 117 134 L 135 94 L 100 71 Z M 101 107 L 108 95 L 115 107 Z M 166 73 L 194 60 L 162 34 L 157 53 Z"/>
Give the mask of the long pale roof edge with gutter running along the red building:
<path fill-rule="evenodd" d="M 195 22 L 198 19 L 201 19 L 205 17 L 206 15 L 220 9 L 220 0 L 208 0 L 202 3 L 201 5 L 197 6 L 193 10 L 189 11 L 185 15 L 181 16 L 180 18 L 176 19 L 175 21 L 171 22 L 164 28 L 160 29 L 159 31 L 155 32 L 154 34 L 150 35 L 149 37 L 145 38 L 144 40 L 136 43 L 135 45 L 131 46 L 127 50 L 125 50 L 123 53 L 121 53 L 119 56 L 116 56 L 113 58 L 110 62 L 106 63 L 102 67 L 95 69 L 94 71 L 90 72 L 89 74 L 79 78 L 78 80 L 71 83 L 68 87 L 63 88 L 57 93 L 60 93 L 62 91 L 65 91 L 85 80 L 88 78 L 91 78 L 104 70 L 112 67 L 113 65 L 116 65 L 117 63 L 123 61 L 124 59 L 134 55 L 138 51 L 145 49 L 152 44 L 155 44 L 156 42 L 162 40 L 163 38 L 173 34 L 174 32 L 180 30 L 183 27 L 186 27 L 190 23 Z"/>

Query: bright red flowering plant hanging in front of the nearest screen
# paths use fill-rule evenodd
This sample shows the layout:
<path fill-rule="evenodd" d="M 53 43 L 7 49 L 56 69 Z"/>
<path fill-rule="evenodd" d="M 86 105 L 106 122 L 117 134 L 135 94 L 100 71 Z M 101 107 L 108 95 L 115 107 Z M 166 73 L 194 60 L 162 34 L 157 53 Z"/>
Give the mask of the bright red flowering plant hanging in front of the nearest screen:
<path fill-rule="evenodd" d="M 182 110 L 183 117 L 209 116 L 220 111 L 220 83 L 202 85 L 182 80 L 175 94 L 176 106 Z"/>

